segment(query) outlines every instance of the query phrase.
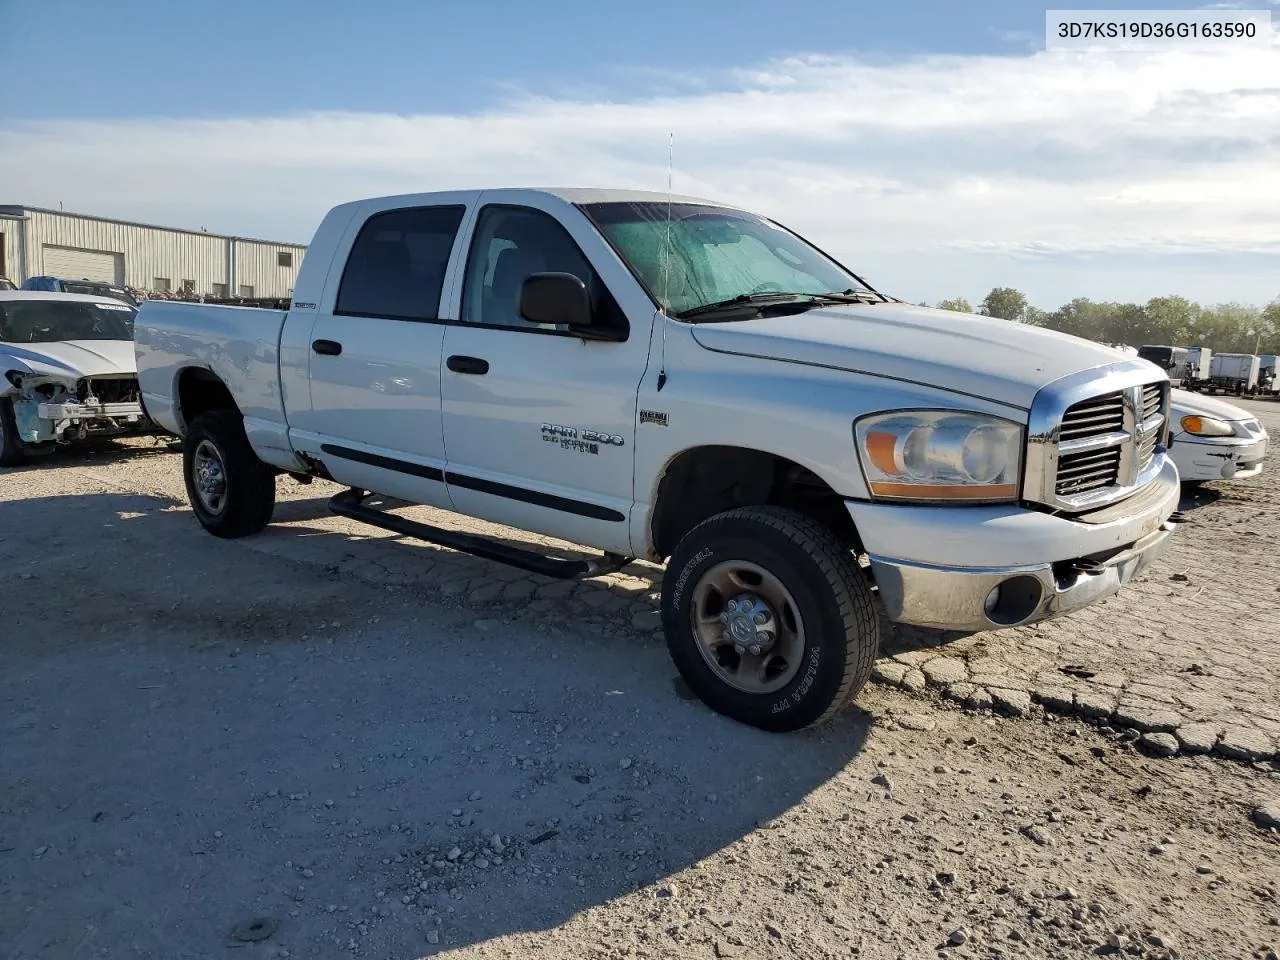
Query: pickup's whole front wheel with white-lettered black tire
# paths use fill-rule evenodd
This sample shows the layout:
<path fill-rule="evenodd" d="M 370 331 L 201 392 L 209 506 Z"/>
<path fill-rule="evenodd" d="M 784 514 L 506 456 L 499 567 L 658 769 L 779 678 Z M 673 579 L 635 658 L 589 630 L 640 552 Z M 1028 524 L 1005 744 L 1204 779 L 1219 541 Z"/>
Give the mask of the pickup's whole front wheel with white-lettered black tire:
<path fill-rule="evenodd" d="M 663 577 L 662 622 L 690 689 L 771 731 L 832 718 L 879 652 L 852 554 L 827 527 L 778 507 L 731 509 L 689 531 Z"/>

